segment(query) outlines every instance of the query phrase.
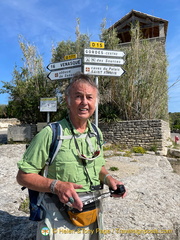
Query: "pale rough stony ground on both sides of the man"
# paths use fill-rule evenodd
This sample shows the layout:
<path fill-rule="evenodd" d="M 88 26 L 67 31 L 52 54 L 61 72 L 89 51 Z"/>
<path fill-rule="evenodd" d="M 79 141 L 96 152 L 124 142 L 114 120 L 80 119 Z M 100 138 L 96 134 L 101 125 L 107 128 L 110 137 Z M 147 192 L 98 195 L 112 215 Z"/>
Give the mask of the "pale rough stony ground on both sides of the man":
<path fill-rule="evenodd" d="M 1 240 L 34 240 L 36 225 L 19 211 L 27 191 L 22 192 L 16 182 L 16 164 L 24 151 L 25 144 L 0 145 Z M 124 199 L 103 201 L 104 240 L 180 240 L 180 175 L 173 172 L 166 157 L 120 154 L 106 156 L 106 168 L 118 168 L 110 173 L 124 182 L 128 194 Z M 145 230 L 149 233 L 142 233 Z"/>

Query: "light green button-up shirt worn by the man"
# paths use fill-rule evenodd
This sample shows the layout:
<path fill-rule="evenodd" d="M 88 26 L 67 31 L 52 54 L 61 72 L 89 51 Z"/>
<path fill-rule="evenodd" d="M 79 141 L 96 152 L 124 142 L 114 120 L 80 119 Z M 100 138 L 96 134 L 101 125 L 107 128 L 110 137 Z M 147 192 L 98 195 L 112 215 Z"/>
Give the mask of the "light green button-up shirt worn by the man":
<path fill-rule="evenodd" d="M 90 181 L 88 180 L 82 159 L 78 157 L 77 148 L 75 145 L 74 137 L 72 136 L 70 124 L 66 119 L 59 122 L 63 129 L 63 136 L 70 136 L 70 139 L 64 139 L 60 150 L 58 151 L 52 165 L 48 169 L 48 178 L 58 179 L 64 182 L 73 182 L 83 185 L 82 189 L 78 189 L 79 192 L 90 191 Z M 88 127 L 83 134 L 73 129 L 76 135 L 78 148 L 81 154 L 87 158 L 92 158 L 93 153 L 87 141 L 85 133 L 94 133 L 91 123 L 88 121 Z M 100 184 L 99 172 L 102 166 L 105 164 L 103 158 L 103 137 L 101 131 L 100 134 L 100 155 L 94 160 L 85 160 L 86 167 L 89 172 L 90 179 L 93 185 Z M 88 134 L 89 135 L 89 134 Z M 94 134 L 90 134 L 89 140 L 94 148 L 94 151 L 98 150 L 97 137 Z M 42 129 L 31 141 L 30 146 L 23 155 L 22 160 L 18 162 L 18 167 L 26 173 L 40 173 L 44 168 L 45 163 L 49 156 L 49 149 L 52 141 L 52 130 L 49 126 Z"/>

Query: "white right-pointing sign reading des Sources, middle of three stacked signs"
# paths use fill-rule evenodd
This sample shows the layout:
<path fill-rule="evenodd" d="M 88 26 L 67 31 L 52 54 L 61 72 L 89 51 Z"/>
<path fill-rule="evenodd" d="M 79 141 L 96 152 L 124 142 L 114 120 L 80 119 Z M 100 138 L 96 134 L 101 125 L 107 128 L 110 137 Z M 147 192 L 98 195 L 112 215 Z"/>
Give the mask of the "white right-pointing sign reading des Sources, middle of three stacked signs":
<path fill-rule="evenodd" d="M 101 57 L 84 57 L 85 63 L 99 63 L 108 65 L 122 65 L 124 64 L 124 59 L 122 58 L 101 58 Z"/>

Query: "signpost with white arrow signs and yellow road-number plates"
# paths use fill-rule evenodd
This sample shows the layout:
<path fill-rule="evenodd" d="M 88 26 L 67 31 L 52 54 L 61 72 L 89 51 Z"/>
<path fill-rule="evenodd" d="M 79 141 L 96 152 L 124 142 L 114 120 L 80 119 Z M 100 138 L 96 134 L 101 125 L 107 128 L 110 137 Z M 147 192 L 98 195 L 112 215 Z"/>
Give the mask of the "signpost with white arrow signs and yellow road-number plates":
<path fill-rule="evenodd" d="M 120 77 L 125 71 L 119 65 L 124 64 L 122 51 L 106 50 L 103 42 L 90 42 L 91 48 L 84 49 L 84 74 L 94 75 L 98 86 L 98 76 Z M 50 80 L 72 78 L 77 72 L 82 71 L 82 59 L 77 54 L 66 55 L 66 61 L 50 63 L 47 69 Z M 98 126 L 98 106 L 95 111 L 95 123 Z"/>

